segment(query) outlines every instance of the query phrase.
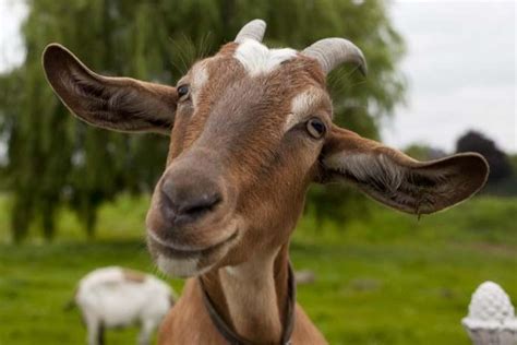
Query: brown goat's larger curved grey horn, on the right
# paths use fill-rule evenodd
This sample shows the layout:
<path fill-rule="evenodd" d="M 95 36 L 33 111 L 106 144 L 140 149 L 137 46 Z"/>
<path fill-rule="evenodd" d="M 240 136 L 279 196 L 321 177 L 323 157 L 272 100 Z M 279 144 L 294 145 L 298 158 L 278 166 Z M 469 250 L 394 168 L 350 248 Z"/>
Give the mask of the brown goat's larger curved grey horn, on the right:
<path fill-rule="evenodd" d="M 361 49 L 345 38 L 320 39 L 305 48 L 302 53 L 316 59 L 325 74 L 342 62 L 356 63 L 363 75 L 368 72 L 366 60 Z"/>

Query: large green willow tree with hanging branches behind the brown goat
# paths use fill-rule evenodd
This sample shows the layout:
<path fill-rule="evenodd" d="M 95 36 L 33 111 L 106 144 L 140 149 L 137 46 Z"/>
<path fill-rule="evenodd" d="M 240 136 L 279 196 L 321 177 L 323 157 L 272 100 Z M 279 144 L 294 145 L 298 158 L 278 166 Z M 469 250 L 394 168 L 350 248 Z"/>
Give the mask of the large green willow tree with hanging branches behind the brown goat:
<path fill-rule="evenodd" d="M 362 48 L 369 60 L 366 80 L 350 68 L 329 76 L 340 124 L 376 136 L 378 119 L 400 102 L 404 91 L 396 70 L 401 39 L 381 0 L 27 2 L 26 60 L 0 78 L 0 123 L 9 144 L 15 240 L 24 238 L 33 222 L 40 222 L 45 236 L 51 238 L 63 205 L 71 206 L 93 235 L 98 205 L 121 191 L 148 191 L 167 152 L 166 138 L 129 136 L 73 119 L 52 94 L 40 67 L 41 52 L 51 41 L 65 45 L 105 74 L 173 84 L 193 59 L 213 53 L 247 21 L 262 17 L 268 24 L 269 46 L 303 48 L 322 37 L 341 36 Z M 346 200 L 341 191 L 330 193 L 337 204 Z M 316 190 L 312 198 L 318 201 L 320 194 Z"/>

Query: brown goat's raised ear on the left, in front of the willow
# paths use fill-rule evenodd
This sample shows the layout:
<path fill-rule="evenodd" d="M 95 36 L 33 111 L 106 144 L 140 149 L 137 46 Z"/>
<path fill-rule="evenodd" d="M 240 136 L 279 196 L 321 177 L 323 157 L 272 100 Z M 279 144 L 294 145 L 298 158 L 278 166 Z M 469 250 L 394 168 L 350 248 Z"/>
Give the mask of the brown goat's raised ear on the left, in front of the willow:
<path fill-rule="evenodd" d="M 175 87 L 99 75 L 58 44 L 47 46 L 43 66 L 56 94 L 80 119 L 117 131 L 170 133 Z"/>

